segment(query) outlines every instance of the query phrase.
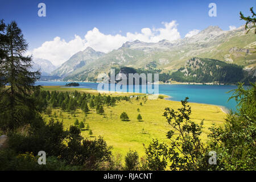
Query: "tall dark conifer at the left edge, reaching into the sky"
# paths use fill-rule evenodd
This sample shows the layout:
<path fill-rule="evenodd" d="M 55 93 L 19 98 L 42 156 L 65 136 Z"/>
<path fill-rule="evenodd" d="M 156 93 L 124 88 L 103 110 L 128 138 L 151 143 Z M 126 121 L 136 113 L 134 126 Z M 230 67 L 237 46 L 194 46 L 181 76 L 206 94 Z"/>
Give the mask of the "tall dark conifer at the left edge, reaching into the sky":
<path fill-rule="evenodd" d="M 1 85 L 9 85 L 6 89 L 0 89 L 1 102 L 4 100 L 5 103 L 0 103 L 0 125 L 3 130 L 13 130 L 34 121 L 39 111 L 31 93 L 40 89 L 40 86 L 34 86 L 40 72 L 30 71 L 32 57 L 24 56 L 28 44 L 16 22 L 7 26 L 1 22 L 0 31 L 3 32 L 0 36 Z"/>

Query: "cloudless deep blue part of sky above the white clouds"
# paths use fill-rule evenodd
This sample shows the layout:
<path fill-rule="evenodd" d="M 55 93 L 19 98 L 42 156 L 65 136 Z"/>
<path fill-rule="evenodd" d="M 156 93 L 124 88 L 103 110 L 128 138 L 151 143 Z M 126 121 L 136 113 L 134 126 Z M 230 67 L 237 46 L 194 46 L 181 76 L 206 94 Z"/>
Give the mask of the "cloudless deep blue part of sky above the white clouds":
<path fill-rule="evenodd" d="M 38 4 L 46 4 L 46 17 L 38 16 Z M 217 17 L 209 17 L 209 3 L 216 3 Z M 176 21 L 175 28 L 180 38 L 192 30 L 203 30 L 208 26 L 241 26 L 244 22 L 239 12 L 250 15 L 250 7 L 256 9 L 255 0 L 246 1 L 47 1 L 10 0 L 2 1 L 0 19 L 18 22 L 29 43 L 30 50 L 42 46 L 46 41 L 59 37 L 65 42 L 75 35 L 84 39 L 94 27 L 104 35 L 135 34 L 142 28 L 164 28 L 162 22 Z M 72 52 L 73 53 L 73 52 Z M 54 60 L 53 60 L 54 61 Z"/>

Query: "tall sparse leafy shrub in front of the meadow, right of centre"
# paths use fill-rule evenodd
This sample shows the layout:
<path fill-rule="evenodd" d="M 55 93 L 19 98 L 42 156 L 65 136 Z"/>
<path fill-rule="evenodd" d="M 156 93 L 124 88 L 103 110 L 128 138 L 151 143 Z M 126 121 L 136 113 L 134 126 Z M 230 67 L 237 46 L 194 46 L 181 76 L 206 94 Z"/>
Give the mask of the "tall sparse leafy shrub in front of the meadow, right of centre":
<path fill-rule="evenodd" d="M 207 147 L 200 138 L 203 121 L 198 125 L 191 120 L 191 106 L 187 100 L 188 97 L 181 101 L 182 107 L 177 111 L 167 107 L 163 114 L 171 126 L 167 133 L 167 138 L 171 141 L 168 151 L 171 170 L 191 171 L 205 167 Z"/>

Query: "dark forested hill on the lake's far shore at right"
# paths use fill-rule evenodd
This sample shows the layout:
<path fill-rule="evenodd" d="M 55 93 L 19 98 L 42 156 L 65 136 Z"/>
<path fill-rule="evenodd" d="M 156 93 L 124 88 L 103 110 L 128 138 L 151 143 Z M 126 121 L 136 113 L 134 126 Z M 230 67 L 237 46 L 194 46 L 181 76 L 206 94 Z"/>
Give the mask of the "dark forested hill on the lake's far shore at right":
<path fill-rule="evenodd" d="M 255 81 L 242 67 L 236 64 L 224 63 L 214 59 L 194 57 L 189 59 L 184 67 L 172 73 L 172 79 L 179 82 L 220 82 L 236 84 L 237 82 Z"/>

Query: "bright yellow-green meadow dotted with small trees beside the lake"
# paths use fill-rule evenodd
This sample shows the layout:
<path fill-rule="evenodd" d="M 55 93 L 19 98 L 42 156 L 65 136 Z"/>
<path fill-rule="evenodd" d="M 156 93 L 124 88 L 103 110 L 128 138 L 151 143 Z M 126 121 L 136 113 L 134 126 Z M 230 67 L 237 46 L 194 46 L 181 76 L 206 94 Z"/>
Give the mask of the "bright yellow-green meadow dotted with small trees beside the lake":
<path fill-rule="evenodd" d="M 56 91 L 74 91 L 74 88 L 61 88 L 60 86 L 44 86 L 43 90 L 56 90 Z M 96 90 L 89 89 L 76 89 L 79 92 L 97 94 Z M 101 93 L 102 94 L 102 93 Z M 103 93 L 111 94 L 112 96 L 120 95 L 136 95 L 136 93 Z M 137 94 L 138 95 L 138 94 Z M 142 94 L 141 94 L 142 95 Z M 145 102 L 146 101 L 146 102 Z M 142 105 L 140 103 L 142 102 Z M 215 123 L 216 125 L 222 125 L 226 114 L 221 111 L 220 107 L 214 105 L 189 103 L 192 107 L 191 119 L 197 123 L 205 119 L 202 134 L 202 139 L 207 140 L 208 127 Z M 73 114 L 61 111 L 61 109 L 52 109 L 51 117 L 56 113 L 56 118 L 59 121 L 63 121 L 65 128 L 73 125 L 76 119 L 81 122 L 85 118 L 85 126 L 89 124 L 90 130 L 93 134 L 89 135 L 89 130 L 82 130 L 83 137 L 94 138 L 99 135 L 104 137 L 106 142 L 113 146 L 113 154 L 120 153 L 122 156 L 126 155 L 126 152 L 131 150 L 137 150 L 139 156 L 144 155 L 143 143 L 146 146 L 151 142 L 152 138 L 159 139 L 168 143 L 166 139 L 166 133 L 170 130 L 170 126 L 166 122 L 166 119 L 162 116 L 164 108 L 170 107 L 177 109 L 181 107 L 180 102 L 168 101 L 163 99 L 146 100 L 141 97 L 140 100 L 131 98 L 131 101 L 117 102 L 114 107 L 104 106 L 105 116 L 96 113 L 96 109 L 90 109 L 89 114 L 85 118 L 84 112 L 77 109 L 75 117 Z M 137 109 L 139 108 L 139 112 Z M 121 121 L 120 114 L 125 111 L 130 121 Z M 60 117 L 61 113 L 61 117 Z M 142 115 L 142 121 L 137 121 L 137 115 Z M 48 115 L 44 114 L 43 117 L 46 121 L 49 120 Z"/>

